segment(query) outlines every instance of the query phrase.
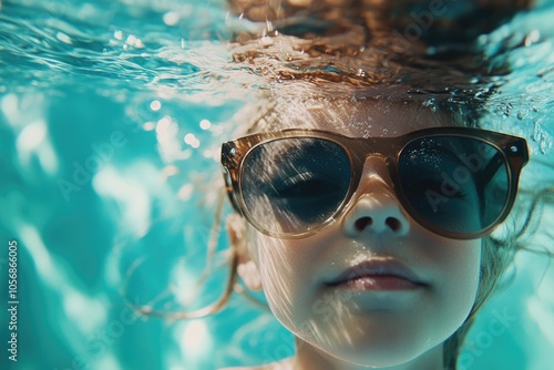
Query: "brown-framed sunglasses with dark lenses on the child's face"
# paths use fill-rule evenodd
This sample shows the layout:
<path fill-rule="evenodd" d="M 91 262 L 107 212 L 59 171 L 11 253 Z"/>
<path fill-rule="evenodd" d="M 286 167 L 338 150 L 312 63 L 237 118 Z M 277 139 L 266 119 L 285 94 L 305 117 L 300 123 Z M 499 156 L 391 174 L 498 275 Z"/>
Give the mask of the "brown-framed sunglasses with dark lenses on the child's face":
<path fill-rule="evenodd" d="M 506 218 L 529 161 L 524 138 L 470 127 L 367 138 L 285 130 L 222 146 L 234 208 L 278 238 L 305 237 L 332 223 L 357 194 L 368 156 L 384 160 L 416 222 L 453 239 L 482 237 Z"/>

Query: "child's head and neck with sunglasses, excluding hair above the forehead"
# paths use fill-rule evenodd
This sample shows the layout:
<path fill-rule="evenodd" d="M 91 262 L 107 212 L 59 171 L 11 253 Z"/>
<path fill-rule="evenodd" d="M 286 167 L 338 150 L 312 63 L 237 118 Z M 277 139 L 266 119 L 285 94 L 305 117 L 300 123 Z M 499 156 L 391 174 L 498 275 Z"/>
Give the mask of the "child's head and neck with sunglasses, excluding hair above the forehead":
<path fill-rule="evenodd" d="M 289 101 L 224 144 L 237 271 L 296 336 L 269 369 L 454 368 L 526 144 L 407 102 Z"/>

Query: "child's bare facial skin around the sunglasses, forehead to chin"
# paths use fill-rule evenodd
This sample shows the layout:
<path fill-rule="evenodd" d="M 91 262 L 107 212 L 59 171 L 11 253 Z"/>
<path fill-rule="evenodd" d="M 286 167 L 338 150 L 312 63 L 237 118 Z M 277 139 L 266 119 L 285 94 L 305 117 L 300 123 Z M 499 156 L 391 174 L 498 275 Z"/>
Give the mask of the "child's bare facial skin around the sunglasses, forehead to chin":
<path fill-rule="evenodd" d="M 414 104 L 369 100 L 288 105 L 278 122 L 276 130 L 349 136 L 448 124 Z M 299 339 L 299 353 L 394 366 L 440 351 L 463 323 L 478 290 L 481 240 L 448 239 L 417 224 L 397 199 L 381 157 L 368 157 L 363 171 L 336 222 L 300 239 L 255 232 L 252 254 L 271 311 Z M 389 276 L 368 277 L 376 271 Z"/>

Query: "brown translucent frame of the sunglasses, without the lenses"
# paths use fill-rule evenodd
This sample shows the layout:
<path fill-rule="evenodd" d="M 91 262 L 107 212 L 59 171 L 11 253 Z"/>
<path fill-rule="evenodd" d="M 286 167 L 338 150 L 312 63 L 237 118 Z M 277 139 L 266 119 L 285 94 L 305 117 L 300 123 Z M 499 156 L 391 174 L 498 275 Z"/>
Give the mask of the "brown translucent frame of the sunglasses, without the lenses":
<path fill-rule="evenodd" d="M 430 138 L 435 136 L 469 137 L 482 141 L 499 151 L 506 163 L 509 189 L 504 208 L 499 217 L 486 228 L 476 233 L 453 233 L 443 230 L 440 227 L 427 222 L 420 216 L 404 195 L 402 183 L 398 173 L 399 158 L 402 151 L 413 141 Z M 283 138 L 310 137 L 322 138 L 338 144 L 350 161 L 350 183 L 345 198 L 337 209 L 321 224 L 300 233 L 275 233 L 265 229 L 255 217 L 248 212 L 244 201 L 242 186 L 242 169 L 245 158 L 257 146 L 268 142 Z M 244 216 L 260 233 L 277 238 L 302 238 L 315 234 L 319 229 L 331 224 L 345 209 L 352 198 L 356 198 L 360 181 L 363 173 L 366 158 L 369 156 L 380 156 L 384 158 L 392 181 L 393 191 L 399 199 L 399 205 L 424 228 L 452 239 L 475 239 L 490 234 L 509 215 L 515 202 L 517 183 L 521 169 L 529 162 L 529 151 L 526 141 L 522 137 L 502 134 L 497 132 L 472 129 L 472 127 L 430 127 L 410 132 L 396 137 L 350 137 L 330 131 L 289 129 L 278 132 L 253 134 L 245 137 L 232 140 L 222 145 L 222 165 L 226 184 L 226 192 L 236 212 Z"/>

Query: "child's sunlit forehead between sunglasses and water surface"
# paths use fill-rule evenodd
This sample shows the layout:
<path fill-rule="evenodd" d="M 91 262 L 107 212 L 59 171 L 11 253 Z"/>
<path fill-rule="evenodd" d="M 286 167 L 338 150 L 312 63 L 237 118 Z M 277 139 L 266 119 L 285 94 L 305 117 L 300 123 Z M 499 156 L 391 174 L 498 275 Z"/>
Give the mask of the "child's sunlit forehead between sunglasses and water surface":
<path fill-rule="evenodd" d="M 290 100 L 276 103 L 257 131 L 317 129 L 348 136 L 398 136 L 455 124 L 449 116 L 418 101 Z"/>

